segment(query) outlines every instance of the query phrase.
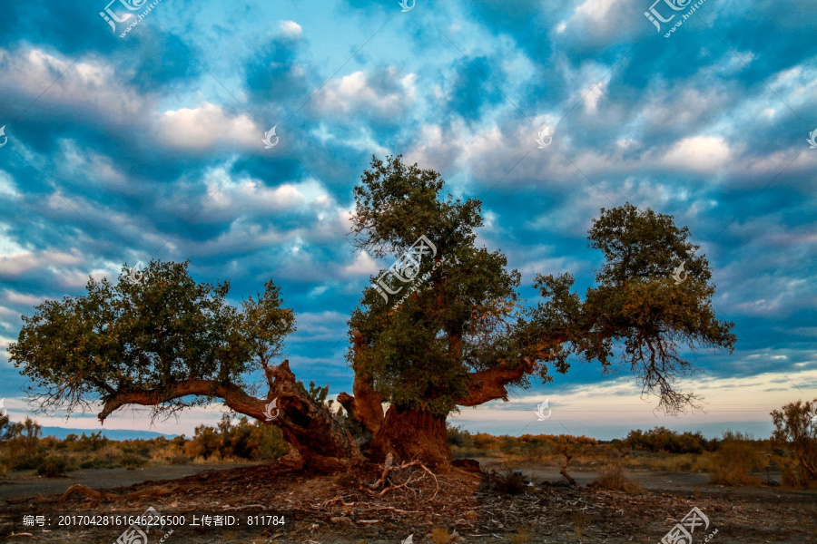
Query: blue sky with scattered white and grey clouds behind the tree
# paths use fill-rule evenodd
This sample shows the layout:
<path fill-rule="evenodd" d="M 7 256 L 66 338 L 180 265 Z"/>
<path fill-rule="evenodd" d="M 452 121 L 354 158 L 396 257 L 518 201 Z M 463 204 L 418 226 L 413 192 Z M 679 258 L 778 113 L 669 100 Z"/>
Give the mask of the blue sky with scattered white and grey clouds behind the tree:
<path fill-rule="evenodd" d="M 670 0 L 667 0 L 669 2 Z M 126 0 L 123 0 L 126 2 Z M 134 0 L 140 4 L 140 0 Z M 142 13 L 147 3 L 133 13 Z M 408 5 L 411 5 L 409 2 Z M 346 320 L 394 259 L 352 252 L 352 188 L 402 153 L 481 199 L 478 242 L 591 285 L 586 231 L 629 201 L 690 228 L 714 271 L 733 355 L 694 355 L 706 413 L 666 417 L 622 371 L 576 364 L 508 403 L 464 409 L 490 432 L 600 438 L 662 424 L 766 435 L 769 411 L 817 396 L 817 41 L 813 2 L 161 0 L 133 26 L 106 7 L 33 0 L 0 19 L 0 341 L 46 299 L 123 262 L 190 259 L 234 301 L 272 277 L 299 330 L 300 379 L 349 391 Z M 128 13 L 117 0 L 114 14 Z M 811 22 L 811 23 L 810 23 Z M 276 126 L 279 143 L 265 149 Z M 553 127 L 553 142 L 536 135 Z M 0 143 L 2 143 L 0 137 Z M 0 397 L 27 413 L 0 354 Z M 549 399 L 553 416 L 533 410 Z M 192 432 L 219 406 L 156 422 Z M 94 429 L 93 413 L 49 425 Z M 138 410 L 114 428 L 148 429 Z"/>

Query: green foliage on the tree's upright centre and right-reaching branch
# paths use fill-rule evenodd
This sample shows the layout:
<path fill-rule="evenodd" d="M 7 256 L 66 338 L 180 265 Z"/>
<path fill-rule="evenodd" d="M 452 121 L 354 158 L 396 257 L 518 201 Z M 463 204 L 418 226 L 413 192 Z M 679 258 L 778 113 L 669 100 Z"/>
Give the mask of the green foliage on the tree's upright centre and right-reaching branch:
<path fill-rule="evenodd" d="M 385 400 L 445 415 L 468 396 L 474 373 L 524 365 L 507 384 L 525 387 L 533 374 L 552 379 L 551 367 L 565 373 L 571 356 L 606 371 L 618 352 L 645 393 L 659 395 L 659 407 L 674 412 L 694 405 L 694 394 L 674 385 L 694 372 L 682 346 L 731 350 L 735 336 L 733 324 L 714 315 L 709 264 L 695 254 L 687 228 L 630 204 L 602 209 L 589 231 L 590 246 L 605 257 L 597 286 L 582 297 L 570 274 L 538 275 L 534 287 L 542 300 L 525 307 L 517 270 L 507 270 L 500 251 L 476 246 L 481 203 L 441 198 L 443 186 L 437 172 L 398 156 L 373 158 L 355 189 L 356 248 L 374 257 L 400 255 L 425 235 L 438 249 L 417 275 L 428 279 L 401 306 L 367 287 L 349 319 L 350 337 L 357 329 L 366 345 L 350 349 L 349 362 Z M 672 274 L 682 262 L 688 277 L 676 285 Z M 389 291 L 405 286 L 387 281 Z"/>

